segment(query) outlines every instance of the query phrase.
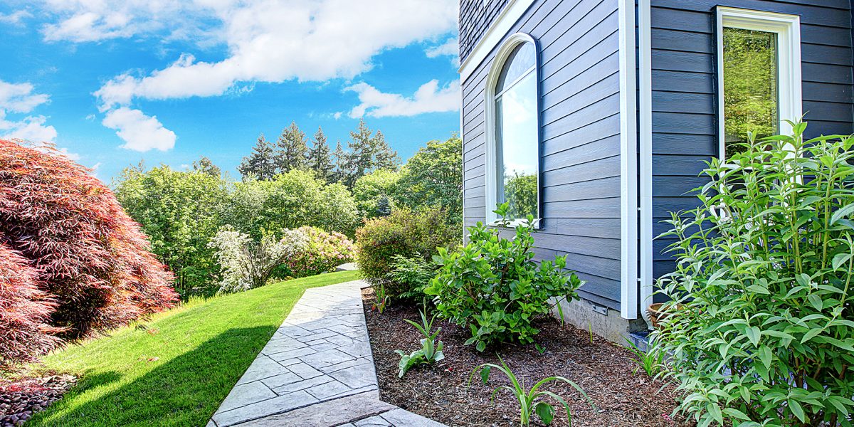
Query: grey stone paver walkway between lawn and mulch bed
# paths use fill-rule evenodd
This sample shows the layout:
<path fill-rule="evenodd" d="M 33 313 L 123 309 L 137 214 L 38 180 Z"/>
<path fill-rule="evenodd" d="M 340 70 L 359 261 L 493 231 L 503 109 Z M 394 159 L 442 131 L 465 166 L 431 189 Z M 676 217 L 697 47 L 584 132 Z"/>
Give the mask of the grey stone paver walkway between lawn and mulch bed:
<path fill-rule="evenodd" d="M 379 400 L 360 280 L 306 290 L 208 427 L 441 427 Z"/>

